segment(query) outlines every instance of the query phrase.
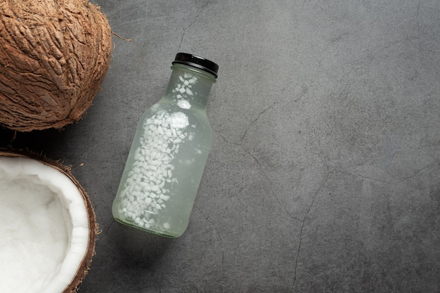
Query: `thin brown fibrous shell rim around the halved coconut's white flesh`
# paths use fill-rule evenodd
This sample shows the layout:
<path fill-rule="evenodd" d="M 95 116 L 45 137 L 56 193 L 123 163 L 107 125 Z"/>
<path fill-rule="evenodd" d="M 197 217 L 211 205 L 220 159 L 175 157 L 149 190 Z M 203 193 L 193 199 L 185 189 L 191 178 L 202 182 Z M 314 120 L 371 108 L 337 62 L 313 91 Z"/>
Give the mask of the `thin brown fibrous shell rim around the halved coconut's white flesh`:
<path fill-rule="evenodd" d="M 75 278 L 72 279 L 70 284 L 65 287 L 63 293 L 72 293 L 77 292 L 79 285 L 81 285 L 84 277 L 89 271 L 91 261 L 93 259 L 93 255 L 95 254 L 95 246 L 96 246 L 96 236 L 99 233 L 98 223 L 96 223 L 96 215 L 89 199 L 89 195 L 87 195 L 86 190 L 82 187 L 81 184 L 77 181 L 75 176 L 73 176 L 70 167 L 65 166 L 59 161 L 54 161 L 52 159 L 48 159 L 42 155 L 38 155 L 34 152 L 27 152 L 22 150 L 10 150 L 5 148 L 0 148 L 0 157 L 27 157 L 30 159 L 37 159 L 39 162 L 52 167 L 61 173 L 65 174 L 70 180 L 75 183 L 77 186 L 79 193 L 81 193 L 82 198 L 84 200 L 84 205 L 86 206 L 87 216 L 89 217 L 89 243 L 87 245 L 87 252 L 84 255 L 80 266 L 77 269 L 77 273 Z"/>

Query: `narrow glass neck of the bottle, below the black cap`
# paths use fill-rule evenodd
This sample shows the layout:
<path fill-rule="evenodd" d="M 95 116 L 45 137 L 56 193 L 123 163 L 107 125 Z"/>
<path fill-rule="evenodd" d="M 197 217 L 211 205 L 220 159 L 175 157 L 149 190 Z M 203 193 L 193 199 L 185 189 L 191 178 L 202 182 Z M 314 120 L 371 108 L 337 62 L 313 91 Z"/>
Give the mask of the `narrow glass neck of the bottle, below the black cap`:
<path fill-rule="evenodd" d="M 214 76 L 198 68 L 174 64 L 163 100 L 183 109 L 206 109 Z"/>

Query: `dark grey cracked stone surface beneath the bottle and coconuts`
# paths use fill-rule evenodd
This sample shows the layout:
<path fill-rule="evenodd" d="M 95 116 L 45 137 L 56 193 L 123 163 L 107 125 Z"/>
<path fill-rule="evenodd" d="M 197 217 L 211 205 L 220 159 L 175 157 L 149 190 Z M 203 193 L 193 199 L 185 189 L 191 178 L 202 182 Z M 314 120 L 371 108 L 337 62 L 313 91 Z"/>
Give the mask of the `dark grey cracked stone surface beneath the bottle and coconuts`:
<path fill-rule="evenodd" d="M 102 230 L 83 292 L 440 292 L 440 2 L 117 1 L 94 105 L 1 145 L 72 164 Z M 190 226 L 115 223 L 138 117 L 178 51 L 220 65 Z M 84 166 L 79 167 L 84 163 Z"/>

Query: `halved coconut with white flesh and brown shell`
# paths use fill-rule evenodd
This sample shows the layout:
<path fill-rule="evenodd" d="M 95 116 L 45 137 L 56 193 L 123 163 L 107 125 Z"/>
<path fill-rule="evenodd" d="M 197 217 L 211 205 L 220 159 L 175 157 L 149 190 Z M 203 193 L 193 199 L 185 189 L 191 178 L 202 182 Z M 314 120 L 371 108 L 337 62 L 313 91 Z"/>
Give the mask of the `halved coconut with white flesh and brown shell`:
<path fill-rule="evenodd" d="M 69 168 L 0 150 L 0 292 L 75 292 L 96 230 L 89 197 Z"/>

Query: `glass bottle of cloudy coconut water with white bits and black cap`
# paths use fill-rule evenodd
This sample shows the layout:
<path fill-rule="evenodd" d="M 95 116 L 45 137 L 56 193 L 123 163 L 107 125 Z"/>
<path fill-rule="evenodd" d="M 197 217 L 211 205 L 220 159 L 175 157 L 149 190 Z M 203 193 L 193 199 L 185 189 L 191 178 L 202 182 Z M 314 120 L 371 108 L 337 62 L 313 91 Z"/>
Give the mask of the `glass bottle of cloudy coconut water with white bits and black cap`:
<path fill-rule="evenodd" d="M 138 122 L 112 214 L 127 226 L 179 237 L 212 145 L 206 106 L 219 66 L 177 53 L 164 96 Z"/>

